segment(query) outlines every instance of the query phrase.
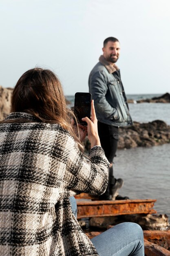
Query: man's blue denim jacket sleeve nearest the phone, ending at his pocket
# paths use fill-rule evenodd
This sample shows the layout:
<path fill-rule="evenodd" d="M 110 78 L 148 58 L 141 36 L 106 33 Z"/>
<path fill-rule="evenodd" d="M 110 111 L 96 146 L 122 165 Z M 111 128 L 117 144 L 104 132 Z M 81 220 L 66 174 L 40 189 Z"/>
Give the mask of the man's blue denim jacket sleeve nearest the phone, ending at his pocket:
<path fill-rule="evenodd" d="M 108 84 L 106 81 L 106 76 L 102 71 L 96 71 L 89 76 L 89 90 L 92 94 L 92 99 L 94 99 L 95 109 L 97 112 L 101 113 L 102 116 L 106 118 L 119 119 L 119 114 L 116 108 L 113 108 L 106 100 L 106 93 L 108 90 Z"/>

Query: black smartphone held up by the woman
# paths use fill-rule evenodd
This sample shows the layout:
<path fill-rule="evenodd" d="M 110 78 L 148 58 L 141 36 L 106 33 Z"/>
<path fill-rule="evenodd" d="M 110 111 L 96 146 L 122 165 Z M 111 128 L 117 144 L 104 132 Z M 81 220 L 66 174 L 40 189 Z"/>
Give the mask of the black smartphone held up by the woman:
<path fill-rule="evenodd" d="M 87 126 L 83 117 L 91 119 L 91 93 L 89 92 L 76 92 L 74 101 L 74 114 L 77 117 L 79 124 Z"/>

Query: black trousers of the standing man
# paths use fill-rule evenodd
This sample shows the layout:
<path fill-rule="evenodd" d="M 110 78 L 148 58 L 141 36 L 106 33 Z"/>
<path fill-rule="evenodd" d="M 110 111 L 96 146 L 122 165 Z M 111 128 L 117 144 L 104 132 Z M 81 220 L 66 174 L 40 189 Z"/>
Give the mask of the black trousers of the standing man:
<path fill-rule="evenodd" d="M 117 150 L 117 143 L 119 139 L 118 127 L 110 126 L 98 121 L 98 133 L 101 146 L 104 149 L 104 153 L 111 164 Z M 115 184 L 115 182 L 116 179 L 113 175 L 113 166 L 111 166 L 109 171 L 108 186 L 106 192 L 102 195 L 103 197 L 109 197 L 109 195 L 111 195 L 110 188 Z"/>

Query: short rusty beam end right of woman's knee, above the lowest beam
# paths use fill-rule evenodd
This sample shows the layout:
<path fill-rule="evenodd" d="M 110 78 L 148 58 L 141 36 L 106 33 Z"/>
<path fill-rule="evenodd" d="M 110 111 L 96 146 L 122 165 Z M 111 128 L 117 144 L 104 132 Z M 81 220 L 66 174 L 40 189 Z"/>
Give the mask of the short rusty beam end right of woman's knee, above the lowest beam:
<path fill-rule="evenodd" d="M 144 230 L 144 238 L 165 249 L 170 249 L 170 230 Z"/>

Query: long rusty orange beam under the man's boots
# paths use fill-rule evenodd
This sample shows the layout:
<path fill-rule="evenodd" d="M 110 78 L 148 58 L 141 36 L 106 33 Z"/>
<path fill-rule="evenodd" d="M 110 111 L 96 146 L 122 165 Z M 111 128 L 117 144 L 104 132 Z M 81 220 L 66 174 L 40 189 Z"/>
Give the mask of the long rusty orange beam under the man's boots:
<path fill-rule="evenodd" d="M 118 216 L 136 213 L 156 213 L 152 207 L 156 200 L 77 200 L 77 219 L 88 217 Z"/>

